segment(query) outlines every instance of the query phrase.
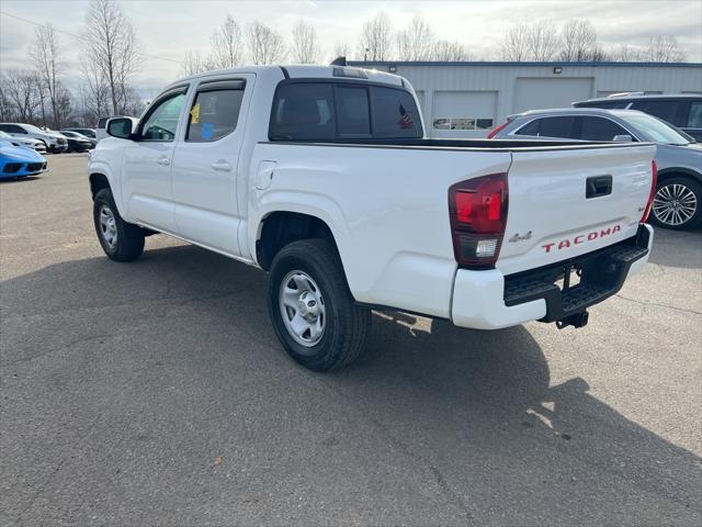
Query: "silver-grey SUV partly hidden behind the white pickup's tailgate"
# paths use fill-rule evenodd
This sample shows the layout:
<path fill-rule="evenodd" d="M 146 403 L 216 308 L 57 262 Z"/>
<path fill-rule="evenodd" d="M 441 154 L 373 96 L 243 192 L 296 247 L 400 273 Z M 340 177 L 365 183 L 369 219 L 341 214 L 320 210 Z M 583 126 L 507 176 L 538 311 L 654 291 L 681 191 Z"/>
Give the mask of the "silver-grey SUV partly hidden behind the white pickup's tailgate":
<path fill-rule="evenodd" d="M 656 143 L 652 222 L 675 229 L 702 223 L 702 144 L 660 119 L 636 110 L 536 110 L 512 115 L 492 137 Z"/>

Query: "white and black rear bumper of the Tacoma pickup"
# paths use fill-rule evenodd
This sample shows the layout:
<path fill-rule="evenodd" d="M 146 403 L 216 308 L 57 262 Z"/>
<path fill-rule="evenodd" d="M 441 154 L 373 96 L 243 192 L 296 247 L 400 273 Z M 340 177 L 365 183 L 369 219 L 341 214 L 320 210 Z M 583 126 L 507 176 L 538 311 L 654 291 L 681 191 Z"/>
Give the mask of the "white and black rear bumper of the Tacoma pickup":
<path fill-rule="evenodd" d="M 458 269 L 451 319 L 457 326 L 499 329 L 524 322 L 558 322 L 615 294 L 648 261 L 653 228 L 573 260 L 505 277 L 499 270 Z M 580 269 L 580 283 L 562 290 L 565 269 Z"/>

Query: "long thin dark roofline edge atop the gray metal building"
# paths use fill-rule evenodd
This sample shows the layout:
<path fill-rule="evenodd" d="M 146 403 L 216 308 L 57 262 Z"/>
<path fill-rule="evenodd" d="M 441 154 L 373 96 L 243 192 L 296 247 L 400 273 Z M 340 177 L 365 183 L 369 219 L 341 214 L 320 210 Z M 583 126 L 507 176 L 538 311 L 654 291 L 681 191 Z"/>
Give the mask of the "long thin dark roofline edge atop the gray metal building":
<path fill-rule="evenodd" d="M 579 61 L 567 63 L 561 60 L 552 60 L 546 63 L 537 61 L 510 61 L 510 60 L 349 60 L 349 66 L 526 66 L 526 67 L 634 67 L 634 68 L 702 68 L 702 63 L 614 63 L 614 61 Z"/>

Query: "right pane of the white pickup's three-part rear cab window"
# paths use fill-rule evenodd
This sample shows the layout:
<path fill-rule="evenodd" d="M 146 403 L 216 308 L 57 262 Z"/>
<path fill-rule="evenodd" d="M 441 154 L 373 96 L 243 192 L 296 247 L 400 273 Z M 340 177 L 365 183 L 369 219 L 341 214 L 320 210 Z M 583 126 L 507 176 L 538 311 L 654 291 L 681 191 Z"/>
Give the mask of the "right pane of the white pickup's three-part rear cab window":
<path fill-rule="evenodd" d="M 374 137 L 421 137 L 419 112 L 409 92 L 374 86 L 371 97 Z"/>

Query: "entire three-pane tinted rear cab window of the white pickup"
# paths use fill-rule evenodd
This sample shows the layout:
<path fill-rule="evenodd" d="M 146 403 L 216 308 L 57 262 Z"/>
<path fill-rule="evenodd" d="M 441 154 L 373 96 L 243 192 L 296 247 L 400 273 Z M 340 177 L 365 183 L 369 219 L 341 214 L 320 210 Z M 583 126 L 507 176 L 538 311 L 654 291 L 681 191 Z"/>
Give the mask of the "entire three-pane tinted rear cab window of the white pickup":
<path fill-rule="evenodd" d="M 339 82 L 286 82 L 273 101 L 271 141 L 421 137 L 414 98 L 401 89 Z"/>

